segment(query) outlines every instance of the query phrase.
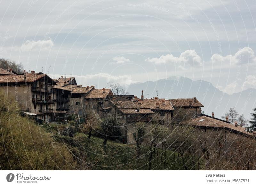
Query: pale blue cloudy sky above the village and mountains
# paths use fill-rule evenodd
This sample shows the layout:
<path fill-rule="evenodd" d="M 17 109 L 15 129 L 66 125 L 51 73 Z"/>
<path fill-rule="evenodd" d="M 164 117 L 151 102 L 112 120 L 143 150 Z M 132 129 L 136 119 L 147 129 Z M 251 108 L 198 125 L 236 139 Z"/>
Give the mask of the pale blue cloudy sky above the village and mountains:
<path fill-rule="evenodd" d="M 0 0 L 0 58 L 83 86 L 170 76 L 256 84 L 255 1 Z"/>

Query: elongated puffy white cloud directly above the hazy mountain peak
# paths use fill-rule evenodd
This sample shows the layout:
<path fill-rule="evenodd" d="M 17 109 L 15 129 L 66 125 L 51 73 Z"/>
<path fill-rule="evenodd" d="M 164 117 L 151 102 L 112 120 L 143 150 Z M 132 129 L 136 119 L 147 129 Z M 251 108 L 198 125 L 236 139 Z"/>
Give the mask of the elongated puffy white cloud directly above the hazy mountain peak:
<path fill-rule="evenodd" d="M 186 50 L 180 54 L 180 57 L 174 57 L 172 54 L 161 56 L 160 58 L 148 58 L 145 61 L 155 64 L 174 63 L 181 68 L 189 66 L 202 66 L 201 57 L 197 55 L 195 50 Z"/>

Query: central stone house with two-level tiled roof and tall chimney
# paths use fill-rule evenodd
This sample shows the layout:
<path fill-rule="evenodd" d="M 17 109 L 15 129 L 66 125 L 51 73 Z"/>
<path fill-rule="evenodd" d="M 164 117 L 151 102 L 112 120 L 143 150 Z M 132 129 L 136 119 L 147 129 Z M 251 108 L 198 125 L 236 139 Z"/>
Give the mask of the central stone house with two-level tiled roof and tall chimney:
<path fill-rule="evenodd" d="M 113 108 L 108 114 L 116 114 L 118 122 L 121 123 L 122 141 L 135 143 L 133 133 L 137 130 L 136 124 L 144 122 L 148 125 L 152 122 L 160 123 L 166 127 L 170 126 L 174 108 L 169 100 L 144 99 L 143 92 L 140 99 L 112 102 Z"/>

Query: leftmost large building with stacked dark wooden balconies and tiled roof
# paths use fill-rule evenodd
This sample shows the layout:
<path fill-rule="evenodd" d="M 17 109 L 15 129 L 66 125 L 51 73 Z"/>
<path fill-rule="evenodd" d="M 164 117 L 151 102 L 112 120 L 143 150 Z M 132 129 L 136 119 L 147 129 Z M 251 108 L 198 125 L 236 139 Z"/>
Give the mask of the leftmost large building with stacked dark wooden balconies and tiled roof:
<path fill-rule="evenodd" d="M 27 73 L 24 70 L 23 75 L 10 73 L 0 76 L 1 90 L 15 97 L 23 112 L 36 114 L 43 121 L 53 120 L 55 95 L 52 86 L 56 83 L 48 75 L 35 71 Z"/>

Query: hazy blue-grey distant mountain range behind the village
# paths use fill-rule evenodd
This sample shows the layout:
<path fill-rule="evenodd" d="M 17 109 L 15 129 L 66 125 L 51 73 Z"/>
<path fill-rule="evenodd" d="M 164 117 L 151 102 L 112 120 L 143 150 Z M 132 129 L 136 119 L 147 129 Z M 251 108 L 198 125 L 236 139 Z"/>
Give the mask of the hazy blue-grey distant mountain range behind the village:
<path fill-rule="evenodd" d="M 236 107 L 239 114 L 244 114 L 251 118 L 252 109 L 256 106 L 256 89 L 247 89 L 239 93 L 229 95 L 212 85 L 212 83 L 198 80 L 193 81 L 185 77 L 170 77 L 158 81 L 147 81 L 144 83 L 131 84 L 127 92 L 141 96 L 144 90 L 144 98 L 158 97 L 165 99 L 193 98 L 196 97 L 204 107 L 204 113 L 210 115 L 215 113 L 215 117 L 223 116 L 231 107 Z"/>

